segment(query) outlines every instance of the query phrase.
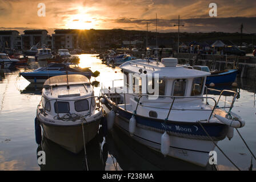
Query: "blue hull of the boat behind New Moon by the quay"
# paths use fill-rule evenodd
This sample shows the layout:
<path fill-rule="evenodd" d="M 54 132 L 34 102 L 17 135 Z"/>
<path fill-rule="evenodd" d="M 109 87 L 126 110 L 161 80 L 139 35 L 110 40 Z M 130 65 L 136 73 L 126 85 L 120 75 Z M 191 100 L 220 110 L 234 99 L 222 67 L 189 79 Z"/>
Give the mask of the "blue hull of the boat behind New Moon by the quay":
<path fill-rule="evenodd" d="M 228 72 L 219 73 L 217 75 L 210 75 L 206 77 L 206 85 L 210 83 L 216 84 L 231 84 L 237 77 L 237 69 L 230 69 Z"/>

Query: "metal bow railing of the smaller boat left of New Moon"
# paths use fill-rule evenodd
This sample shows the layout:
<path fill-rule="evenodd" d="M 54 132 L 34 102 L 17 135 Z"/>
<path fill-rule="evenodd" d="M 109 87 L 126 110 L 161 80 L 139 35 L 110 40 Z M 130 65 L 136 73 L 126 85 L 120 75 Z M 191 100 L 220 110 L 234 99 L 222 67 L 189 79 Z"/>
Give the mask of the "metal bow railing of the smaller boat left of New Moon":
<path fill-rule="evenodd" d="M 45 98 L 46 102 L 45 104 L 43 104 L 42 100 L 43 98 Z M 53 98 L 53 99 L 47 99 L 45 96 L 42 96 L 41 98 L 41 104 L 42 104 L 42 107 L 43 107 L 43 113 L 42 114 L 46 114 L 46 111 L 47 109 L 45 108 L 46 104 L 49 102 L 50 104 L 50 101 L 56 101 L 58 103 L 58 101 L 66 101 L 66 102 L 70 102 L 70 101 L 80 101 L 80 100 L 89 100 L 90 99 L 90 106 L 89 106 L 89 112 L 87 114 L 91 115 L 91 108 L 92 107 L 95 107 L 97 105 L 97 103 L 95 102 L 95 105 L 93 106 L 93 98 L 97 98 L 99 100 L 99 97 L 98 96 L 89 96 L 89 97 L 85 97 L 85 98 L 79 98 L 79 99 L 75 99 L 75 100 L 65 100 L 65 99 L 59 99 L 59 98 Z M 39 106 L 39 105 L 38 105 Z M 99 108 L 98 108 L 99 109 Z M 64 113 L 65 114 L 65 113 Z M 66 114 L 70 114 L 71 113 L 66 113 Z M 75 113 L 72 113 L 72 114 L 75 114 Z M 76 114 L 77 115 L 77 114 Z M 57 118 L 59 119 L 59 109 L 58 109 L 58 104 L 57 104 Z"/>

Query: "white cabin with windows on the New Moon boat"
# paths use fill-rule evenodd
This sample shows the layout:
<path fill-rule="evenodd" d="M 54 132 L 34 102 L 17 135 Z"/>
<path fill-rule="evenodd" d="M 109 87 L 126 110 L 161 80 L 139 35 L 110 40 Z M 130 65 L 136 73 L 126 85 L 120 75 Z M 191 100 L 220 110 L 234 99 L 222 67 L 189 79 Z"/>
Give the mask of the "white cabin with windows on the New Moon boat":
<path fill-rule="evenodd" d="M 163 58 L 161 63 L 146 59 L 127 61 L 120 68 L 124 73 L 123 88 L 128 93 L 159 96 L 202 96 L 206 76 L 210 75 L 179 66 L 175 58 Z"/>

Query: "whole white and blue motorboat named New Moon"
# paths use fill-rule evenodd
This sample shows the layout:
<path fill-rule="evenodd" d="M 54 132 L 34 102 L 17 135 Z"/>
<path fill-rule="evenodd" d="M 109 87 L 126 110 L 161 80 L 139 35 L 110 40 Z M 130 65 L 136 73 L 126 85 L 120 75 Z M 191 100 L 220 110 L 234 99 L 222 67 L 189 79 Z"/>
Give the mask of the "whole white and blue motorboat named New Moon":
<path fill-rule="evenodd" d="M 175 58 L 138 59 L 120 68 L 123 86 L 101 89 L 107 127 L 163 155 L 206 166 L 212 140 L 231 139 L 234 127 L 245 125 L 231 112 L 236 92 L 222 90 L 217 101 L 203 96 L 210 73 L 184 68 Z M 221 99 L 223 92 L 233 94 L 230 102 Z"/>

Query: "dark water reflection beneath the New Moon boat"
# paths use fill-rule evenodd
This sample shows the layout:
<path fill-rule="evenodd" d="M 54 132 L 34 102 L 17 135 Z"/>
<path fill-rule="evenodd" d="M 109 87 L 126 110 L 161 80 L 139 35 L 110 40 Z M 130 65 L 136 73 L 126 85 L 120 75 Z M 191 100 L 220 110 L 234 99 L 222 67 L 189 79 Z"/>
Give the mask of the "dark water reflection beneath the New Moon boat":
<path fill-rule="evenodd" d="M 206 167 L 186 163 L 183 160 L 164 157 L 154 150 L 149 150 L 114 127 L 106 137 L 109 154 L 113 155 L 123 170 L 215 170 L 207 164 Z"/>

